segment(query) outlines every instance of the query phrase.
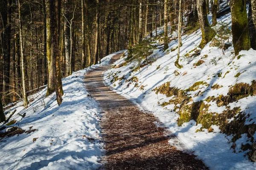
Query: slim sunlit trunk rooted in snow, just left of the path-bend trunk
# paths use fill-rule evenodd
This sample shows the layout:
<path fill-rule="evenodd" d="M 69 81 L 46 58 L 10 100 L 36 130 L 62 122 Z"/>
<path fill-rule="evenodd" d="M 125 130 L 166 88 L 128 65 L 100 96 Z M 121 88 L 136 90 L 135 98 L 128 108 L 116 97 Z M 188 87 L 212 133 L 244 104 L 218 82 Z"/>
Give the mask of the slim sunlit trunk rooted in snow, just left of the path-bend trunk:
<path fill-rule="evenodd" d="M 82 69 L 86 67 L 86 54 L 85 54 L 85 26 L 84 26 L 84 0 L 81 0 L 82 10 Z"/>

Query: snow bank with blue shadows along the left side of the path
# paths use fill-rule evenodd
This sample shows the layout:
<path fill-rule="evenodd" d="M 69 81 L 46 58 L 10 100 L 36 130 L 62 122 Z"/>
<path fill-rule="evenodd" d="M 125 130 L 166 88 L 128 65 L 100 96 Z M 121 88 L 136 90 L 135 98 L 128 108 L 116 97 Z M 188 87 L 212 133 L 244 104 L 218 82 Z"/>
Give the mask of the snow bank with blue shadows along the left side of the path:
<path fill-rule="evenodd" d="M 102 59 L 101 64 L 62 79 L 64 96 L 59 107 L 55 93 L 44 97 L 45 88 L 29 96 L 33 101 L 27 109 L 18 102 L 8 110 L 17 110 L 11 119 L 17 122 L 11 126 L 36 131 L 0 142 L 1 170 L 94 170 L 102 166 L 100 159 L 105 151 L 98 126 L 102 115 L 96 101 L 85 90 L 83 78 L 88 71 L 108 64 L 114 54 Z M 26 116 L 21 120 L 17 113 Z"/>

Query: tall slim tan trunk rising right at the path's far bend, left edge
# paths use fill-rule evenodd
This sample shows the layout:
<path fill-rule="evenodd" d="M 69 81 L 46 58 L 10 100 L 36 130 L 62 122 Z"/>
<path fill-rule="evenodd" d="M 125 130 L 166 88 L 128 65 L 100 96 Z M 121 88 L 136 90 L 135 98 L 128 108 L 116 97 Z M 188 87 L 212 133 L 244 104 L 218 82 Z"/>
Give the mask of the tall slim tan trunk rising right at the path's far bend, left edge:
<path fill-rule="evenodd" d="M 96 33 L 95 33 L 95 48 L 94 48 L 94 62 L 93 64 L 98 64 L 99 60 L 99 0 L 97 0 L 96 5 Z"/>

